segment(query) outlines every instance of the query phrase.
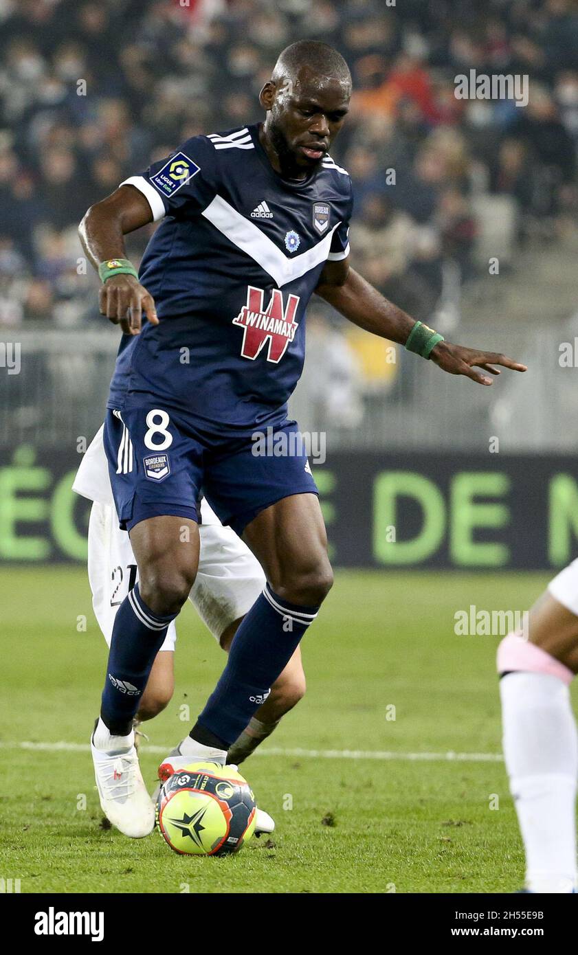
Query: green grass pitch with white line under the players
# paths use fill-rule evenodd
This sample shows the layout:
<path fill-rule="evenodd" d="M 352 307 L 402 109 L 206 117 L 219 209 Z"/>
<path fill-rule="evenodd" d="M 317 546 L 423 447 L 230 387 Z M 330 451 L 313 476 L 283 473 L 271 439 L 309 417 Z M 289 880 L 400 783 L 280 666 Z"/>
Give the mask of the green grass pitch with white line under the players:
<path fill-rule="evenodd" d="M 524 610 L 546 581 L 338 573 L 302 645 L 308 693 L 242 768 L 277 831 L 238 856 L 192 859 L 172 853 L 156 832 L 132 840 L 101 827 L 88 738 L 106 646 L 84 571 L 4 568 L 0 877 L 19 879 L 22 892 L 64 893 L 516 889 L 523 854 L 503 763 L 430 756 L 500 753 L 499 638 L 457 636 L 455 612 L 471 604 Z M 187 606 L 175 695 L 146 725 L 149 747 L 168 751 L 188 732 L 224 663 Z M 190 721 L 182 721 L 183 706 Z M 22 746 L 61 741 L 86 748 Z M 306 752 L 287 752 L 295 749 Z M 143 744 L 151 789 L 160 759 Z"/>

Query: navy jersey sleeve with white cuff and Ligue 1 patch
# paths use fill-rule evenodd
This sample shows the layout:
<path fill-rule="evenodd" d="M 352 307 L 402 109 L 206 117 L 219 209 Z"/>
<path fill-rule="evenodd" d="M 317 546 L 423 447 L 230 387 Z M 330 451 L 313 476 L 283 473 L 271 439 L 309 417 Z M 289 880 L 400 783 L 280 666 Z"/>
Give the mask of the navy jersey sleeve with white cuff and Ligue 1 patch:
<path fill-rule="evenodd" d="M 194 216 L 213 201 L 215 183 L 215 150 L 203 136 L 195 136 L 167 156 L 153 162 L 137 176 L 130 176 L 120 185 L 134 185 L 151 207 L 154 221 L 164 216 Z"/>

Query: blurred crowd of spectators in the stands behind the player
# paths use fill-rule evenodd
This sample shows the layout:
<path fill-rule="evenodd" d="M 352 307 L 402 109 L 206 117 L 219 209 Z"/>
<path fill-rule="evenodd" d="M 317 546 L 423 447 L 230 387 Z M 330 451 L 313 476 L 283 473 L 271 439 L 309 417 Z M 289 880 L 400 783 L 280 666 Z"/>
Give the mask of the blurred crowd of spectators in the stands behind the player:
<path fill-rule="evenodd" d="M 0 325 L 93 321 L 86 208 L 182 140 L 259 119 L 276 53 L 303 36 L 352 67 L 333 156 L 354 181 L 353 263 L 416 317 L 444 262 L 475 275 L 481 196 L 511 203 L 516 243 L 572 221 L 573 0 L 0 0 Z M 457 98 L 470 69 L 528 74 L 528 105 Z"/>

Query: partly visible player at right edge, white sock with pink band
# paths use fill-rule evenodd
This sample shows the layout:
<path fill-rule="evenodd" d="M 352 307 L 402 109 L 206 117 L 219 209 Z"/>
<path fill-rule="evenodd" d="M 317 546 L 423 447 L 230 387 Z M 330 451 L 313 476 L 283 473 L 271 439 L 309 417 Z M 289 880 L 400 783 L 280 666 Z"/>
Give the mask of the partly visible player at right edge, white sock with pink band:
<path fill-rule="evenodd" d="M 578 736 L 569 685 L 578 672 L 578 561 L 546 588 L 528 633 L 498 648 L 503 756 L 525 849 L 525 890 L 575 892 Z"/>

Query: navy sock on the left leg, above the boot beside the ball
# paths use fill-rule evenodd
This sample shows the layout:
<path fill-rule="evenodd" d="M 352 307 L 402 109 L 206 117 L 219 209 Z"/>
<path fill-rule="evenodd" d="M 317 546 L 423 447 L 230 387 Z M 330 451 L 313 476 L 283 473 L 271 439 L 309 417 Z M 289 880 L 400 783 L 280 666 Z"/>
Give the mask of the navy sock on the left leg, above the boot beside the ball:
<path fill-rule="evenodd" d="M 149 610 L 139 594 L 139 584 L 118 607 L 100 709 L 102 722 L 114 736 L 131 732 L 155 657 L 176 616 L 159 617 Z"/>

